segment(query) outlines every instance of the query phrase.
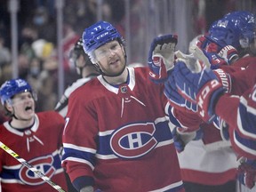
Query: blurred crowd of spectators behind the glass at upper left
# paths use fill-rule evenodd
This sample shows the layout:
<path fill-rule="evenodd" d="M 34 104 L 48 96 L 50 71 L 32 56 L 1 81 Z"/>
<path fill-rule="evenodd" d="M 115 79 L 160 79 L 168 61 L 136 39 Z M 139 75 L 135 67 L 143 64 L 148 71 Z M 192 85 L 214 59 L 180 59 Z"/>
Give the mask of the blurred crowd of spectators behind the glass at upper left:
<path fill-rule="evenodd" d="M 0 3 L 0 84 L 3 84 L 12 77 L 12 40 L 8 1 Z M 79 77 L 75 66 L 68 60 L 69 52 L 82 35 L 84 28 L 97 20 L 96 8 L 95 0 L 64 2 L 62 44 L 65 88 Z M 117 9 L 118 12 L 112 12 L 113 9 Z M 124 1 L 102 1 L 103 20 L 117 23 L 123 17 Z M 57 25 L 54 1 L 20 1 L 18 23 L 19 77 L 28 80 L 37 92 L 37 111 L 53 109 L 58 101 Z"/>

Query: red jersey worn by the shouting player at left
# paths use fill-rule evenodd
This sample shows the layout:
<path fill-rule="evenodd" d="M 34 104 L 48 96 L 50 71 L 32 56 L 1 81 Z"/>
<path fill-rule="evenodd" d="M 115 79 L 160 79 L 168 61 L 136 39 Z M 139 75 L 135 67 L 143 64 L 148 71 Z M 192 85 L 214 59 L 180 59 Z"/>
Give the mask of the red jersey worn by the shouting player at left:
<path fill-rule="evenodd" d="M 37 113 L 34 125 L 20 132 L 9 122 L 0 125 L 0 140 L 21 158 L 32 164 L 63 189 L 67 189 L 64 170 L 60 164 L 62 131 L 65 121 L 57 112 Z M 0 148 L 0 180 L 2 192 L 38 192 L 56 189 L 29 171 Z"/>

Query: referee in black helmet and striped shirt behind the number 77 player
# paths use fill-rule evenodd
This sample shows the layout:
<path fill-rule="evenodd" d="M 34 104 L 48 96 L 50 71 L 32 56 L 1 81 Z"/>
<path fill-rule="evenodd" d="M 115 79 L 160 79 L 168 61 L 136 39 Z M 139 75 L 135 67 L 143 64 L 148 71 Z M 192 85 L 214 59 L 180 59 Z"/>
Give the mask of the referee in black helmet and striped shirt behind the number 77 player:
<path fill-rule="evenodd" d="M 68 112 L 68 98 L 71 92 L 74 92 L 76 88 L 86 84 L 92 77 L 99 75 L 99 72 L 93 66 L 89 56 L 84 52 L 82 38 L 76 42 L 74 49 L 70 52 L 69 59 L 75 65 L 76 72 L 81 78 L 77 79 L 75 83 L 71 84 L 71 86 L 65 90 L 55 107 L 55 110 L 63 117 L 66 117 Z"/>

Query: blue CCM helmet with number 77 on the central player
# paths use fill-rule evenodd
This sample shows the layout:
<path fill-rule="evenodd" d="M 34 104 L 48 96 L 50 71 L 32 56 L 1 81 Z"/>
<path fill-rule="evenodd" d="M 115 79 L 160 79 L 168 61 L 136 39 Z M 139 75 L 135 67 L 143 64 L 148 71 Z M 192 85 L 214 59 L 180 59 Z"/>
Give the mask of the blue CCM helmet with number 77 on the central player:
<path fill-rule="evenodd" d="M 123 42 L 123 37 L 110 23 L 101 20 L 84 29 L 84 52 L 91 56 L 95 49 L 113 40 L 121 40 Z"/>

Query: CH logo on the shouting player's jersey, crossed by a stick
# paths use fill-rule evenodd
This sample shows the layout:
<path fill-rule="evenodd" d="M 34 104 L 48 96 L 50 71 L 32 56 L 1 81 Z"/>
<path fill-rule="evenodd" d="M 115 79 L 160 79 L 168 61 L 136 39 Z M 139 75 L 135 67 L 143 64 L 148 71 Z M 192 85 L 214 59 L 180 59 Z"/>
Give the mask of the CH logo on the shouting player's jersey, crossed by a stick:
<path fill-rule="evenodd" d="M 29 161 L 37 170 L 42 172 L 46 177 L 52 178 L 56 170 L 53 167 L 52 156 L 41 156 Z M 32 186 L 43 184 L 45 181 L 39 178 L 36 173 L 30 171 L 26 166 L 22 166 L 20 169 L 20 180 L 24 183 Z"/>

